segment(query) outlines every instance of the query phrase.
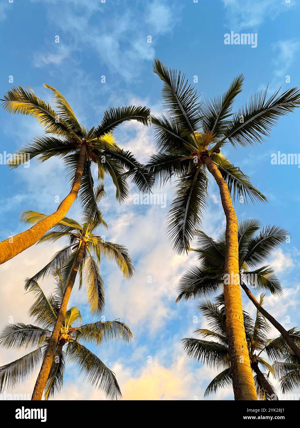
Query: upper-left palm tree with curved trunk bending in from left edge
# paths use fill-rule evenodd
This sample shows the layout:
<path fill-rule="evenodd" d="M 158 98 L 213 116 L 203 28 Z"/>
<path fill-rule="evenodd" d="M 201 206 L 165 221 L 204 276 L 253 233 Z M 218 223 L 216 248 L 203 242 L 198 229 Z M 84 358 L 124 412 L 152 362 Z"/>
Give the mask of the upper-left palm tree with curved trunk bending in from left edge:
<path fill-rule="evenodd" d="M 45 128 L 46 134 L 52 134 L 36 137 L 19 149 L 9 166 L 17 167 L 28 156 L 31 159 L 38 156 L 39 162 L 58 156 L 64 160 L 72 187 L 53 214 L 45 216 L 29 230 L 0 242 L 0 264 L 35 244 L 45 232 L 65 217 L 77 194 L 83 208 L 95 206 L 91 163 L 98 166 L 99 180 L 103 181 L 105 174 L 110 175 L 116 186 L 116 198 L 119 202 L 128 196 L 129 177 L 140 191 L 149 190 L 148 172 L 130 152 L 117 146 L 112 134 L 126 120 L 137 120 L 148 125 L 149 109 L 135 106 L 110 108 L 105 111 L 101 124 L 89 130 L 78 122 L 60 92 L 51 86 L 44 86 L 54 93 L 56 110 L 38 98 L 31 88 L 24 89 L 21 86 L 10 89 L 1 100 L 3 108 L 9 113 L 33 116 Z"/>

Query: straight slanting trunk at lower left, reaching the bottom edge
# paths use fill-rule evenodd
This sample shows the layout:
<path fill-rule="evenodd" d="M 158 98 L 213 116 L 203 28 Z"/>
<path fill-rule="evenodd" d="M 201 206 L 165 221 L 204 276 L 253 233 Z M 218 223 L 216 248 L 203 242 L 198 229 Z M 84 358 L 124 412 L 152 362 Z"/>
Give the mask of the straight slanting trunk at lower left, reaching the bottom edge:
<path fill-rule="evenodd" d="M 34 390 L 33 390 L 33 395 L 31 397 L 32 400 L 42 400 L 42 396 L 43 396 L 43 392 L 46 386 L 46 382 L 51 370 L 51 366 L 53 363 L 53 358 L 55 356 L 55 351 L 56 351 L 56 346 L 57 346 L 57 341 L 58 341 L 58 336 L 59 336 L 59 332 L 60 332 L 60 328 L 62 327 L 62 322 L 65 318 L 65 314 L 67 312 L 67 305 L 68 305 L 68 301 L 70 298 L 70 294 L 76 279 L 76 275 L 77 275 L 77 270 L 79 268 L 79 264 L 80 261 L 82 260 L 82 256 L 83 256 L 83 249 L 84 249 L 84 242 L 82 242 L 77 256 L 76 256 L 76 260 L 74 263 L 74 267 L 73 270 L 71 272 L 70 275 L 70 279 L 68 281 L 68 284 L 65 288 L 65 294 L 63 295 L 62 298 L 62 304 L 60 305 L 58 314 L 57 314 L 57 318 L 56 318 L 56 322 L 54 324 L 53 327 L 53 331 L 52 334 L 50 336 L 49 339 L 49 343 L 48 343 L 48 347 L 46 350 L 46 355 L 45 358 L 43 360 L 42 363 L 42 367 L 40 369 L 39 372 L 39 376 L 36 380 L 36 385 L 34 386 Z"/>

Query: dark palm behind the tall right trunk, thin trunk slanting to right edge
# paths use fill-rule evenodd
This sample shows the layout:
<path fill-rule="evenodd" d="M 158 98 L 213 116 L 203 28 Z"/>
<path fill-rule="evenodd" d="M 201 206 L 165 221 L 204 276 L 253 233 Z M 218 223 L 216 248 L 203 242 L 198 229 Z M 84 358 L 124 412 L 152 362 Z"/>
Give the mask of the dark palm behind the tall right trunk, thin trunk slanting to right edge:
<path fill-rule="evenodd" d="M 258 220 L 245 220 L 238 225 L 238 257 L 241 287 L 264 317 L 281 333 L 293 353 L 300 359 L 300 348 L 288 331 L 279 324 L 255 299 L 250 288 L 268 290 L 281 295 L 282 288 L 273 268 L 265 265 L 272 251 L 286 241 L 288 232 L 278 226 L 261 229 Z M 255 233 L 260 232 L 255 236 Z M 194 250 L 198 254 L 199 267 L 190 269 L 180 280 L 176 299 L 208 297 L 224 284 L 224 264 L 226 256 L 225 232 L 218 241 L 210 238 L 203 231 L 198 231 L 198 245 Z M 263 266 L 262 266 L 263 265 Z"/>

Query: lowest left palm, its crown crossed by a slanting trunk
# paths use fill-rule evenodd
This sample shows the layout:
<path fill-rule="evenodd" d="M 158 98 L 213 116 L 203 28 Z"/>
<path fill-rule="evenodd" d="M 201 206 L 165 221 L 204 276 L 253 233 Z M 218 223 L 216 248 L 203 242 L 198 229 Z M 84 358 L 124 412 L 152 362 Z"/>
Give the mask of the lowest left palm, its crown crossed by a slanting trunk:
<path fill-rule="evenodd" d="M 56 324 L 59 308 L 65 293 L 65 282 L 62 275 L 55 275 L 56 290 L 54 294 L 45 296 L 42 288 L 36 283 L 32 289 L 36 301 L 29 310 L 29 315 L 37 325 L 8 324 L 0 333 L 0 345 L 8 349 L 33 349 L 12 363 L 0 367 L 0 391 L 23 382 L 42 363 L 47 350 L 51 330 Z M 80 311 L 72 306 L 65 314 L 59 330 L 59 338 L 55 358 L 45 385 L 45 399 L 53 397 L 62 389 L 65 363 L 75 363 L 80 374 L 92 386 L 102 389 L 108 398 L 121 397 L 121 391 L 115 374 L 84 344 L 101 345 L 114 339 L 130 342 L 133 338 L 129 327 L 117 320 L 96 321 L 81 324 Z"/>

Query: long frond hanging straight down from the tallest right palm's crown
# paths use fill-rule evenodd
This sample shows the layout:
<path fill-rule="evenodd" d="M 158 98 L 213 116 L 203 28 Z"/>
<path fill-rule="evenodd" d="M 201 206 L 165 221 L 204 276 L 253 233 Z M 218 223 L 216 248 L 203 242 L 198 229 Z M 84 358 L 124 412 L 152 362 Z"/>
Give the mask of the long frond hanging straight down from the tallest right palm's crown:
<path fill-rule="evenodd" d="M 206 208 L 206 197 L 207 177 L 201 166 L 176 182 L 175 198 L 168 213 L 167 233 L 179 254 L 190 249 L 190 241 Z"/>

